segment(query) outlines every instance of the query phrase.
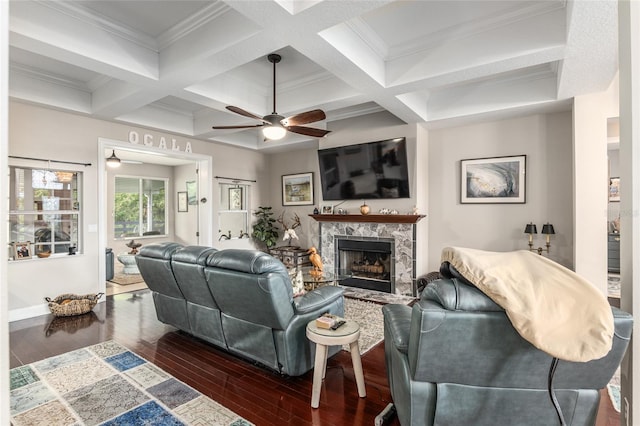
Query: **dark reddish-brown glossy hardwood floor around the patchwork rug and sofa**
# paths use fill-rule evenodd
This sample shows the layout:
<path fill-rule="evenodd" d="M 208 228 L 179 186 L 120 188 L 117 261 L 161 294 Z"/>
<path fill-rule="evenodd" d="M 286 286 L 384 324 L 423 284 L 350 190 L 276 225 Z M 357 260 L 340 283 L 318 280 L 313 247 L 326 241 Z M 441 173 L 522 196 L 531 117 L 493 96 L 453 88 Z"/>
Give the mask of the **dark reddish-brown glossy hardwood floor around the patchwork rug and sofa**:
<path fill-rule="evenodd" d="M 372 425 L 391 396 L 378 344 L 362 357 L 367 397 L 358 397 L 349 353 L 327 363 L 320 407 L 313 409 L 313 371 L 282 377 L 194 339 L 156 319 L 148 290 L 108 296 L 90 314 L 46 315 L 10 325 L 11 368 L 115 340 L 256 425 Z M 596 426 L 617 426 L 606 390 Z M 394 418 L 391 425 L 399 425 Z"/>

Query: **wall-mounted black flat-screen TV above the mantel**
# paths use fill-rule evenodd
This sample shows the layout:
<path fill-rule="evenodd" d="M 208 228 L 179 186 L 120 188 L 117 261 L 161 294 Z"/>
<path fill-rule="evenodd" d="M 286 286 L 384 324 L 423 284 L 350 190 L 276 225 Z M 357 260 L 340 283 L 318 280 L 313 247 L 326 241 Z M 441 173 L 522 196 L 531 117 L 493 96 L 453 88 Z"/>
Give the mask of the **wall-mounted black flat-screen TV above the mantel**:
<path fill-rule="evenodd" d="M 409 198 L 405 138 L 318 150 L 324 200 Z"/>

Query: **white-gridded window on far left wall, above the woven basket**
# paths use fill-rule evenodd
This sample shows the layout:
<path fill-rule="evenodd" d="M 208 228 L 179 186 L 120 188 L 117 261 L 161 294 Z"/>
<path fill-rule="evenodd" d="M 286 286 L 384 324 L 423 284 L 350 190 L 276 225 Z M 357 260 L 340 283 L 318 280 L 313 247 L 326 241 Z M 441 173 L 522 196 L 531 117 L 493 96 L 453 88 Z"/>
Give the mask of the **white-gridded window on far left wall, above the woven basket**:
<path fill-rule="evenodd" d="M 78 249 L 82 173 L 15 166 L 9 171 L 10 243 L 31 243 L 29 257 Z"/>

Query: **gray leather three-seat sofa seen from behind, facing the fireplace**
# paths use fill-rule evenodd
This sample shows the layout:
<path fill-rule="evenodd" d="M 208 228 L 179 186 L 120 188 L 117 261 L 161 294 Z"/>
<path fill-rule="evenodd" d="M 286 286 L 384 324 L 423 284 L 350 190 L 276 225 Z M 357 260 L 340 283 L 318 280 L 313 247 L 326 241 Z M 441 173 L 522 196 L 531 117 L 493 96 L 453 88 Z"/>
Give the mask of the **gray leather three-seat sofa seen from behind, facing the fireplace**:
<path fill-rule="evenodd" d="M 136 262 L 160 321 L 281 374 L 313 368 L 309 321 L 344 315 L 342 288 L 294 298 L 285 266 L 260 251 L 158 243 L 143 246 Z"/>

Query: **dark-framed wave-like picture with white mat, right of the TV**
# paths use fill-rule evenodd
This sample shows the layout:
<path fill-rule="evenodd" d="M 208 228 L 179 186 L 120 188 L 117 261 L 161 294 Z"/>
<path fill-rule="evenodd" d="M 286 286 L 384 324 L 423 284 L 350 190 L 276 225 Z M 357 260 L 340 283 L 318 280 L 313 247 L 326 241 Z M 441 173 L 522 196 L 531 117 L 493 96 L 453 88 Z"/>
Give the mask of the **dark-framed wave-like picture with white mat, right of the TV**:
<path fill-rule="evenodd" d="M 526 203 L 526 161 L 526 155 L 461 160 L 460 203 Z"/>

